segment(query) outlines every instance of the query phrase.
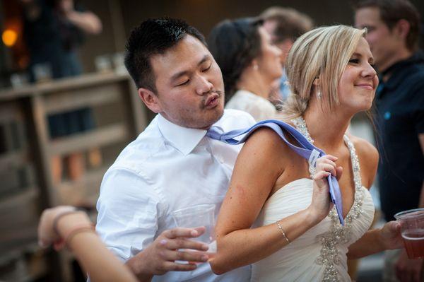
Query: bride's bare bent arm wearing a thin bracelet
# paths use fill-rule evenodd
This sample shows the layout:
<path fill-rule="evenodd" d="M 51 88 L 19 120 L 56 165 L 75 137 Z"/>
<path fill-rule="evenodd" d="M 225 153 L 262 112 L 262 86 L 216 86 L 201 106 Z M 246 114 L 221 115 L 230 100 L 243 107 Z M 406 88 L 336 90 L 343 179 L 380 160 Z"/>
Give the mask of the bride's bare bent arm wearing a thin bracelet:
<path fill-rule="evenodd" d="M 277 223 L 250 229 L 278 177 L 290 165 L 290 155 L 293 155 L 290 148 L 271 129 L 260 129 L 243 146 L 216 225 L 218 252 L 211 260 L 216 274 L 268 257 L 288 244 L 285 237 L 294 240 L 329 213 L 328 184 L 323 181 L 322 187 L 314 189 L 309 208 L 278 221 L 285 235 Z M 318 178 L 329 175 L 329 172 L 319 173 Z"/>

